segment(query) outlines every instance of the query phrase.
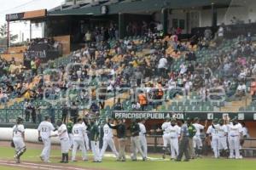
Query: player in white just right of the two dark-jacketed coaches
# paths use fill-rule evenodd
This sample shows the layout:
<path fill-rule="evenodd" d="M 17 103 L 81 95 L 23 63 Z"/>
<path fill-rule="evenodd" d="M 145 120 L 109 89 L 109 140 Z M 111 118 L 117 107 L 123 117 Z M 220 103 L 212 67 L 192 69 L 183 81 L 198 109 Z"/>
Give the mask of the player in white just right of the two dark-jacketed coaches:
<path fill-rule="evenodd" d="M 147 139 L 146 139 L 146 127 L 145 127 L 145 122 L 146 120 L 143 119 L 141 122 L 138 123 L 139 127 L 140 127 L 140 133 L 139 133 L 139 139 L 140 139 L 140 144 L 141 144 L 141 148 L 143 150 L 143 154 L 144 156 L 147 158 L 148 157 L 148 144 L 147 144 Z"/>

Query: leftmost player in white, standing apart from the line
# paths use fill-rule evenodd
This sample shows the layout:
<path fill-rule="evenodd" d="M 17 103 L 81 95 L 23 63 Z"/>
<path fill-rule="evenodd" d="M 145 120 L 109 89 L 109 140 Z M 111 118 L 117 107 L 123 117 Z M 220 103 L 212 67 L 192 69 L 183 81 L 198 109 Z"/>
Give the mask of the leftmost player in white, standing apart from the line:
<path fill-rule="evenodd" d="M 15 144 L 15 161 L 16 163 L 20 163 L 20 156 L 24 154 L 26 151 L 25 145 L 25 128 L 22 124 L 23 119 L 18 117 L 16 120 L 16 124 L 13 127 L 13 142 Z"/>

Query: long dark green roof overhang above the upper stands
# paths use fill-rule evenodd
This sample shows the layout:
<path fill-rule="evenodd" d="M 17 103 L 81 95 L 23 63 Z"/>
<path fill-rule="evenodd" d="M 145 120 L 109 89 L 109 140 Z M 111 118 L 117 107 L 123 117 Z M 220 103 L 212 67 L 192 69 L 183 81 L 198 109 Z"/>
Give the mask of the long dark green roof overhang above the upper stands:
<path fill-rule="evenodd" d="M 119 3 L 102 3 L 97 6 L 78 7 L 60 9 L 49 11 L 49 16 L 55 15 L 103 15 L 103 14 L 119 14 L 119 13 L 141 13 L 141 12 L 155 12 L 160 11 L 162 8 L 195 8 L 207 7 L 212 3 L 223 6 L 229 5 L 231 0 L 131 0 Z M 106 13 L 107 11 L 107 13 Z"/>

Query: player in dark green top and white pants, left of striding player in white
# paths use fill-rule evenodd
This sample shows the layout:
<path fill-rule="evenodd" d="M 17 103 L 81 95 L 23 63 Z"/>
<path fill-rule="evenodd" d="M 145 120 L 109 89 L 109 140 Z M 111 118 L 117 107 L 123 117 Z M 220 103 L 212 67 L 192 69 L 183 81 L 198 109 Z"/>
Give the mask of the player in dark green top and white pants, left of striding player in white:
<path fill-rule="evenodd" d="M 99 127 L 94 119 L 90 119 L 90 146 L 93 153 L 93 162 L 102 162 L 99 149 Z"/>

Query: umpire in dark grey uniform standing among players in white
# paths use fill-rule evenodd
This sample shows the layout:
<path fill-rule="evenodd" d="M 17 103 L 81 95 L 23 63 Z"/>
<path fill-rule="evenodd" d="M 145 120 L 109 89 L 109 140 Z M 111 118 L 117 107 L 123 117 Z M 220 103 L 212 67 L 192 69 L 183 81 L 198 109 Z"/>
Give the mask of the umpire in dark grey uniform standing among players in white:
<path fill-rule="evenodd" d="M 183 154 L 185 154 L 184 161 L 189 161 L 189 128 L 187 122 L 181 120 L 181 135 L 179 143 L 179 151 L 176 161 L 181 161 Z"/>

